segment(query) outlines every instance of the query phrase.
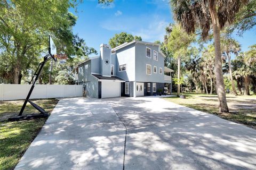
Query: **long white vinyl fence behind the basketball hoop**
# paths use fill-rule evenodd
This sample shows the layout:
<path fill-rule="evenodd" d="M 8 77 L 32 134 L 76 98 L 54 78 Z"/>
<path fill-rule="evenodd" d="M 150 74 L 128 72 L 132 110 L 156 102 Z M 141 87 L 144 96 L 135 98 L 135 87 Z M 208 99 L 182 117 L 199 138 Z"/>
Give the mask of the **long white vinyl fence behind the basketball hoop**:
<path fill-rule="evenodd" d="M 0 84 L 0 101 L 25 99 L 30 84 Z M 82 85 L 36 84 L 30 99 L 82 97 Z"/>

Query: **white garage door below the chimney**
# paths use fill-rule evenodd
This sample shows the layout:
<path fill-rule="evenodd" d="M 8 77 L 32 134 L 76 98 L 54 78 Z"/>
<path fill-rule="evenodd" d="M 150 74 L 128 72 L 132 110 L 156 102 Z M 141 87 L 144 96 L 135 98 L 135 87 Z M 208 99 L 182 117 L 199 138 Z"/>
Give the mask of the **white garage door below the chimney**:
<path fill-rule="evenodd" d="M 119 97 L 120 96 L 120 82 L 116 81 L 102 81 L 101 82 L 101 97 Z"/>

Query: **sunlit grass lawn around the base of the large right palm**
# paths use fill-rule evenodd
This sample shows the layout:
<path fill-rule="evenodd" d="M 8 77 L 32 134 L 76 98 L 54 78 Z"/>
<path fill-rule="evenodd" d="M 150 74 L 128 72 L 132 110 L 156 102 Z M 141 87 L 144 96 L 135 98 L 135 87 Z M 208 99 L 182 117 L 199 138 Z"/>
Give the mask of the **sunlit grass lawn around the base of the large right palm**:
<path fill-rule="evenodd" d="M 233 94 L 227 94 L 229 113 L 222 114 L 218 112 L 217 95 L 190 93 L 186 94 L 186 99 L 181 99 L 179 97 L 169 97 L 165 99 L 256 129 L 256 95 L 235 96 Z"/>

